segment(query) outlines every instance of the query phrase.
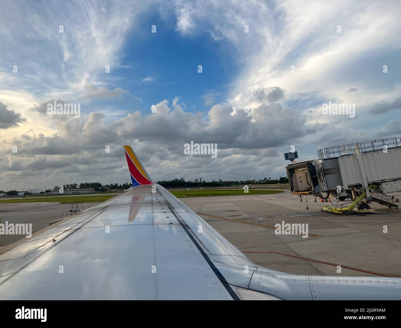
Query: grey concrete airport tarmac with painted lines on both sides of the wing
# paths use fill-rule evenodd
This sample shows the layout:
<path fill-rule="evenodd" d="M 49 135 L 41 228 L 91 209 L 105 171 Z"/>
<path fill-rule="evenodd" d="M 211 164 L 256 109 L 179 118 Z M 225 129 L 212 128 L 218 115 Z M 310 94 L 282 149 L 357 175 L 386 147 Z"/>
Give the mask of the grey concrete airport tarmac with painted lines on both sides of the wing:
<path fill-rule="evenodd" d="M 400 193 L 394 196 L 401 198 Z M 330 203 L 321 203 L 320 199 L 314 202 L 314 197 L 308 197 L 308 202 L 303 197 L 300 202 L 288 190 L 180 200 L 265 268 L 291 274 L 401 277 L 401 208 L 373 203 L 371 207 L 377 210 L 373 214 L 335 215 L 320 211 Z M 83 205 L 87 209 L 97 204 Z M 0 204 L 0 217 L 3 223 L 32 223 L 34 233 L 69 209 L 69 204 L 49 202 Z M 282 221 L 307 223 L 308 237 L 276 234 L 275 224 Z M 383 232 L 384 226 L 387 233 Z M 21 237 L 1 235 L 0 248 Z"/>

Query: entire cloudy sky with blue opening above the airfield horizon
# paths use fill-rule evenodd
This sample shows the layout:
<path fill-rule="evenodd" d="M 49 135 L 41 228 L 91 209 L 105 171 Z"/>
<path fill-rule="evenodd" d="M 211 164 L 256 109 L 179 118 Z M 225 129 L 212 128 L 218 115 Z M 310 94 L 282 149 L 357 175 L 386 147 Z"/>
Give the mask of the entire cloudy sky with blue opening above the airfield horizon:
<path fill-rule="evenodd" d="M 401 136 L 399 1 L 1 8 L 0 190 L 130 181 L 123 145 L 154 181 L 245 180 L 286 176 L 292 149 Z M 191 141 L 217 156 L 184 154 Z"/>

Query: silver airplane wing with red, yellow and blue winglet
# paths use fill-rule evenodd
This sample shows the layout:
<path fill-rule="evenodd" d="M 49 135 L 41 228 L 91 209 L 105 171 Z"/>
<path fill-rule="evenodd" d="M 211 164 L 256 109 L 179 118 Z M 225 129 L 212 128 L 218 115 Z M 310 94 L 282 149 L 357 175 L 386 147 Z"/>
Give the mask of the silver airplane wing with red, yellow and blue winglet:
<path fill-rule="evenodd" d="M 401 278 L 308 276 L 257 266 L 152 179 L 0 255 L 7 300 L 392 300 Z"/>

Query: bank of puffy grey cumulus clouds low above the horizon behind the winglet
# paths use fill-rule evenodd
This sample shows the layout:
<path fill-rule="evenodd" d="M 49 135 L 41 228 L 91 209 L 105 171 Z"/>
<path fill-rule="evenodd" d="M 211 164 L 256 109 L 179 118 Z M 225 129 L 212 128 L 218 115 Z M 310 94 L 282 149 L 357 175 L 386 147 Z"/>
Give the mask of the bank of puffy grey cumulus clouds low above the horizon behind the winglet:
<path fill-rule="evenodd" d="M 53 135 L 16 137 L 12 142 L 18 146 L 18 154 L 9 151 L 7 160 L 0 163 L 2 178 L 17 179 L 20 172 L 29 170 L 43 181 L 52 177 L 61 182 L 80 181 L 94 174 L 107 177 L 110 171 L 125 179 L 129 176 L 122 146 L 128 144 L 156 180 L 175 177 L 176 172 L 188 179 L 200 174 L 213 179 L 215 172 L 223 169 L 231 172 L 231 179 L 235 175 L 244 179 L 241 171 L 249 166 L 255 175 L 266 167 L 275 170 L 282 164 L 281 157 L 273 158 L 279 147 L 287 149 L 294 139 L 311 132 L 302 117 L 300 124 L 289 130 L 282 117 L 295 112 L 279 103 L 260 105 L 252 115 L 234 111 L 231 105 L 214 105 L 205 116 L 186 112 L 178 102 L 175 97 L 170 106 L 163 100 L 155 105 L 155 113 L 135 111 L 108 123 L 104 123 L 103 113 L 93 112 L 87 118 L 57 121 L 58 133 Z M 34 110 L 43 111 L 43 104 Z M 190 141 L 217 143 L 217 158 L 184 155 L 184 144 Z M 261 162 L 260 156 L 269 156 L 269 163 Z"/>

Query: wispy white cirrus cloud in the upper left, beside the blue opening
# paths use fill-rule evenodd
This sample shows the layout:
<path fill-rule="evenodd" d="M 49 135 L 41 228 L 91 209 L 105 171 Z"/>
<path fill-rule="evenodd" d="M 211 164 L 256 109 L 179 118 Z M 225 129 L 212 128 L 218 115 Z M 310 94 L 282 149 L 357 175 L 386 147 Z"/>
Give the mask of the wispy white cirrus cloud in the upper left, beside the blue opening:
<path fill-rule="evenodd" d="M 106 66 L 111 74 L 119 68 L 127 34 L 147 6 L 134 1 L 8 4 L 0 13 L 2 48 L 8 49 L 0 59 L 18 67 L 16 83 L 23 78 L 40 93 L 98 85 L 99 78 L 107 79 Z"/>

